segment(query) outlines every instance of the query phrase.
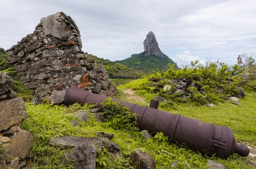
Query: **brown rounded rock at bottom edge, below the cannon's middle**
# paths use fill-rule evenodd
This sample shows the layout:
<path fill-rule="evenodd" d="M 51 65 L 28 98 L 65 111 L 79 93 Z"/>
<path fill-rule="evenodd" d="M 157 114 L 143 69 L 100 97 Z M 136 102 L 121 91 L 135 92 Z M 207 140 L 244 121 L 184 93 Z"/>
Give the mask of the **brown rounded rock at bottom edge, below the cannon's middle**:
<path fill-rule="evenodd" d="M 136 150 L 131 154 L 130 160 L 134 169 L 156 169 L 154 158 L 146 152 Z"/>

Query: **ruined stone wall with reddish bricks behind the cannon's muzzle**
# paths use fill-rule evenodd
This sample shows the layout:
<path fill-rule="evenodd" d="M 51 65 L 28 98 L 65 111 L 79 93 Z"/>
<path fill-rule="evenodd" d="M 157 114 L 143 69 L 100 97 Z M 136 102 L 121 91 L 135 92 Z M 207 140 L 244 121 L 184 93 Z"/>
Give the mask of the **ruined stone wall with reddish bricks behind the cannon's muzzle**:
<path fill-rule="evenodd" d="M 7 63 L 20 72 L 25 89 L 33 89 L 35 100 L 64 101 L 71 86 L 113 96 L 116 87 L 104 66 L 95 68 L 94 60 L 81 51 L 80 32 L 74 20 L 58 12 L 40 20 L 32 34 L 7 50 Z"/>

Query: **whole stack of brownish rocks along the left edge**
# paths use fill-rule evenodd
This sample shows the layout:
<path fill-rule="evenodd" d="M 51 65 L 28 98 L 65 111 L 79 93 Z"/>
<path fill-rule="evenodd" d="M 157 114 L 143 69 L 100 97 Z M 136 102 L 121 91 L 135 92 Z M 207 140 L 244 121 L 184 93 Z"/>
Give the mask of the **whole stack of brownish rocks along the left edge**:
<path fill-rule="evenodd" d="M 12 79 L 0 72 L 0 144 L 3 145 L 3 156 L 0 169 L 20 169 L 20 161 L 29 154 L 32 146 L 31 133 L 20 129 L 20 123 L 26 119 L 25 104 L 11 89 Z M 2 97 L 6 95 L 6 97 Z M 0 154 L 2 156 L 2 154 Z"/>

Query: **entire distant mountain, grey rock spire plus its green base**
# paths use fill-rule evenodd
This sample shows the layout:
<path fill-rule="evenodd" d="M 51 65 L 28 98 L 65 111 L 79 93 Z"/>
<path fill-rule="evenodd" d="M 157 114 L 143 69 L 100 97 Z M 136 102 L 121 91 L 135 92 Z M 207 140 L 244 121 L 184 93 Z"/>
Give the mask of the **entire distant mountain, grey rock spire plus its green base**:
<path fill-rule="evenodd" d="M 168 69 L 169 63 L 175 64 L 172 59 L 161 52 L 153 32 L 148 32 L 143 45 L 144 52 L 132 54 L 131 57 L 125 60 L 117 60 L 115 62 L 143 72 L 152 72 L 155 69 Z"/>

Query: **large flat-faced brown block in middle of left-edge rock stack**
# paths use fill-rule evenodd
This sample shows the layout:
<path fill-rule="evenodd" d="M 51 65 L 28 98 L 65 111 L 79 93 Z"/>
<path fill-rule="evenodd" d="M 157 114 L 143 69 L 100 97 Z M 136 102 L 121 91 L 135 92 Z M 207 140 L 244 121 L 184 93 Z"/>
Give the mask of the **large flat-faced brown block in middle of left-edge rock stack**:
<path fill-rule="evenodd" d="M 27 113 L 21 97 L 0 101 L 0 132 L 26 119 Z"/>

